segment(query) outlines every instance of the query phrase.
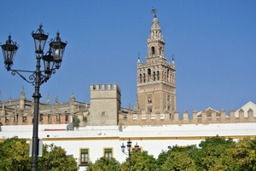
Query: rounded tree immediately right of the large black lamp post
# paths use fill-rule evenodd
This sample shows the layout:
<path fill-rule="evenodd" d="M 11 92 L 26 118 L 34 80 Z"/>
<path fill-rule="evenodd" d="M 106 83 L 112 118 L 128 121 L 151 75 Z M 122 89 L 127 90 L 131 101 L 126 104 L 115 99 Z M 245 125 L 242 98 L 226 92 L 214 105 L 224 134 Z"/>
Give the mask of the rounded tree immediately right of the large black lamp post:
<path fill-rule="evenodd" d="M 43 157 L 38 157 L 38 170 L 77 171 L 78 163 L 73 155 L 67 155 L 61 146 L 43 145 Z"/>

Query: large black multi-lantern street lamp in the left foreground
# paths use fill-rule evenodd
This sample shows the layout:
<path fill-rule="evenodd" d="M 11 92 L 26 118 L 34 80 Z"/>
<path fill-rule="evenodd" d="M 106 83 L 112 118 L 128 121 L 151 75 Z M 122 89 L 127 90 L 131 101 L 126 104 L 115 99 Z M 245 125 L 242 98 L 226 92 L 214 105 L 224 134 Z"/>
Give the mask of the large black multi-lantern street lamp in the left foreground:
<path fill-rule="evenodd" d="M 11 36 L 9 35 L 9 39 L 5 44 L 1 45 L 3 50 L 3 60 L 4 65 L 7 71 L 12 71 L 12 75 L 18 74 L 22 79 L 24 79 L 27 83 L 32 83 L 35 87 L 34 94 L 32 97 L 34 98 L 34 118 L 33 118 L 33 132 L 32 132 L 32 161 L 31 161 L 31 170 L 38 170 L 38 112 L 39 112 L 39 99 L 42 97 L 39 93 L 40 85 L 46 83 L 52 74 L 55 74 L 55 70 L 59 69 L 61 66 L 62 57 L 65 51 L 66 43 L 61 42 L 60 33 L 57 32 L 57 36 L 55 39 L 51 39 L 49 42 L 49 51 L 44 55 L 44 45 L 49 36 L 48 34 L 44 34 L 42 29 L 43 25 L 40 25 L 36 32 L 32 31 L 32 37 L 34 39 L 35 44 L 35 54 L 37 59 L 36 71 L 23 71 L 23 70 L 13 70 L 11 69 L 14 60 L 15 54 L 19 45 L 11 40 Z M 44 71 L 41 71 L 41 62 L 40 60 L 44 60 Z M 26 77 L 22 76 L 20 72 L 30 72 L 32 75 L 26 79 Z"/>

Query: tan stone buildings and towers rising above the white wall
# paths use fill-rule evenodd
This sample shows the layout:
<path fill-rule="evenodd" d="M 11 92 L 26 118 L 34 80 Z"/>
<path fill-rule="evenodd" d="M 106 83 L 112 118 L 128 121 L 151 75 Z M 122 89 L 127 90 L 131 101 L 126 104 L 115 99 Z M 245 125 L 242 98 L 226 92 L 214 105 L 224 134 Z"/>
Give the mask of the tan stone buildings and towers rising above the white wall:
<path fill-rule="evenodd" d="M 79 117 L 80 126 L 116 125 L 168 125 L 198 123 L 253 123 L 256 105 L 249 102 L 244 110 L 183 111 L 180 119 L 176 111 L 176 70 L 174 59 L 169 62 L 165 55 L 165 41 L 161 35 L 159 20 L 154 15 L 148 35 L 148 56 L 145 63 L 137 60 L 137 101 L 134 109 L 121 108 L 121 89 L 116 83 L 91 84 L 90 104 L 75 100 L 72 94 L 68 102 L 39 104 L 39 124 L 65 124 L 73 130 L 73 117 Z M 20 99 L 1 101 L 0 125 L 32 125 L 33 100 L 27 100 L 24 88 Z"/>

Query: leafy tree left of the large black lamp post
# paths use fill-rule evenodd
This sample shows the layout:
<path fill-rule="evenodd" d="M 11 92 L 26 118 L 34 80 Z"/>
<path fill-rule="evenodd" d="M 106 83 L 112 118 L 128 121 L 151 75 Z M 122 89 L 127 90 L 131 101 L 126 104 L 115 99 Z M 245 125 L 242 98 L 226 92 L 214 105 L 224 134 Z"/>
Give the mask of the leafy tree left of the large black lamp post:
<path fill-rule="evenodd" d="M 29 145 L 25 139 L 13 137 L 0 142 L 0 170 L 25 171 L 30 168 Z"/>

